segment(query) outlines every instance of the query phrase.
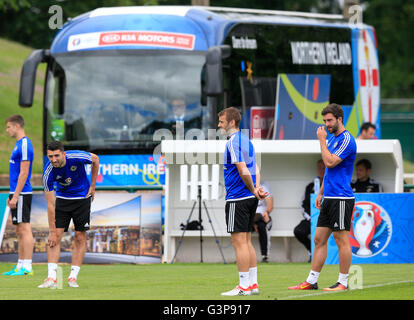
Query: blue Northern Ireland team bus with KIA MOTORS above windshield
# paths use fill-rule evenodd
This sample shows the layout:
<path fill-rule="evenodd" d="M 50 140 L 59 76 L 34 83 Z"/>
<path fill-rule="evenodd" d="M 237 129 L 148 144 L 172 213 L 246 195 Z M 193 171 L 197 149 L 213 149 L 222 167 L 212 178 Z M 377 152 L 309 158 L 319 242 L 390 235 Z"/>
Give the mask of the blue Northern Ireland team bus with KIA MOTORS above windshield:
<path fill-rule="evenodd" d="M 68 20 L 24 62 L 19 105 L 46 63 L 43 146 L 100 155 L 97 186 L 162 186 L 160 144 L 191 130 L 215 139 L 217 114 L 238 107 L 252 138 L 316 139 L 340 104 L 346 128 L 377 126 L 373 27 L 341 15 L 198 6 L 98 8 Z M 213 131 L 214 132 L 214 131 Z M 165 138 L 165 136 L 164 136 Z"/>

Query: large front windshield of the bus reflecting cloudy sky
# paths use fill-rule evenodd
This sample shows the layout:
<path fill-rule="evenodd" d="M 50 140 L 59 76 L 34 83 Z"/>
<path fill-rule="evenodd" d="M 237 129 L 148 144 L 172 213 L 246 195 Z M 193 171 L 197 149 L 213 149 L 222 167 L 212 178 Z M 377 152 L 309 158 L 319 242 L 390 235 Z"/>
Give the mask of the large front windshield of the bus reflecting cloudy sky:
<path fill-rule="evenodd" d="M 61 54 L 48 77 L 47 123 L 64 122 L 65 146 L 141 153 L 159 129 L 202 129 L 205 53 L 105 50 Z M 52 98 L 54 97 L 54 98 Z M 48 128 L 48 138 L 53 126 Z"/>

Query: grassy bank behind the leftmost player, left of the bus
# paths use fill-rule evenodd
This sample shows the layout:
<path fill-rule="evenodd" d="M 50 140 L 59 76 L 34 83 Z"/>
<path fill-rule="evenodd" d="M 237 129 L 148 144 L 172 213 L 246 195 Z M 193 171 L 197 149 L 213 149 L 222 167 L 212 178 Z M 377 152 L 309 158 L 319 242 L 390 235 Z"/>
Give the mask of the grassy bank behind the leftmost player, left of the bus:
<path fill-rule="evenodd" d="M 21 108 L 18 104 L 20 72 L 32 48 L 0 38 L 0 174 L 9 172 L 10 152 L 16 143 L 5 129 L 5 120 L 13 114 L 21 114 L 25 119 L 25 131 L 35 149 L 33 172 L 41 173 L 42 159 L 42 101 L 46 65 L 40 64 L 36 77 L 34 104 L 31 108 Z"/>

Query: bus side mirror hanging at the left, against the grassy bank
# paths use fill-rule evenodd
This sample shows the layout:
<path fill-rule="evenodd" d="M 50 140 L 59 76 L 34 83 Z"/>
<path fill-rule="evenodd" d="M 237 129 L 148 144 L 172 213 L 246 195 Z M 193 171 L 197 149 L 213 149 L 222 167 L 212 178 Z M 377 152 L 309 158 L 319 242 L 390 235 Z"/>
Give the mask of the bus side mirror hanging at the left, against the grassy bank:
<path fill-rule="evenodd" d="M 40 62 L 48 61 L 49 55 L 49 50 L 37 49 L 24 62 L 20 74 L 19 105 L 21 107 L 33 105 L 37 66 Z"/>

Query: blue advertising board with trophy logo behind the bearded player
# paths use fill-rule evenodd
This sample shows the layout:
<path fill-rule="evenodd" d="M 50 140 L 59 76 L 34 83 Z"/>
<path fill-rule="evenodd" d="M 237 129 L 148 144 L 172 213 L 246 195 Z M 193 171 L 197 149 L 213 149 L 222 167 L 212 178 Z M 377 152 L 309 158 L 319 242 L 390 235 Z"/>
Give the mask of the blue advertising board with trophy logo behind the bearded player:
<path fill-rule="evenodd" d="M 312 253 L 319 217 L 311 196 Z M 349 232 L 352 263 L 414 262 L 414 194 L 357 193 Z M 338 248 L 331 235 L 326 264 L 337 264 Z"/>

